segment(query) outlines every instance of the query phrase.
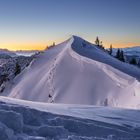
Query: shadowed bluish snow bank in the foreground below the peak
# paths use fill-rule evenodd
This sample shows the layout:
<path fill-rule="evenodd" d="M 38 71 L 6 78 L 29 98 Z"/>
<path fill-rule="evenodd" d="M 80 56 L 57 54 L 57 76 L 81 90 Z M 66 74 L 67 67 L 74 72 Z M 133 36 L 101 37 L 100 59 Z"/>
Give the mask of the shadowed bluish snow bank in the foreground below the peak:
<path fill-rule="evenodd" d="M 137 110 L 0 97 L 0 139 L 140 140 L 139 116 Z"/>

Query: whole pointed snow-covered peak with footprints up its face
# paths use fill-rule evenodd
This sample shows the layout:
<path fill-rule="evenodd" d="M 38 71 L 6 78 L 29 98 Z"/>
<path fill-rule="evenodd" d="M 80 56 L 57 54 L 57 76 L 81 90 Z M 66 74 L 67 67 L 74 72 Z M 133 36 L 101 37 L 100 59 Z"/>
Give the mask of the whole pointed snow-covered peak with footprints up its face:
<path fill-rule="evenodd" d="M 40 54 L 4 96 L 123 108 L 140 106 L 140 69 L 73 36 Z"/>

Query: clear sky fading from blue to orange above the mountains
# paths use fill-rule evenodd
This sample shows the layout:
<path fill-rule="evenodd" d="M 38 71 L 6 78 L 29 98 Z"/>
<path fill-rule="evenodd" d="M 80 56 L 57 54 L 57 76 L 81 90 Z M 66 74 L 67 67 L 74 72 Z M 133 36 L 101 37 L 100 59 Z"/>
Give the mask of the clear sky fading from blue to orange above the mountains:
<path fill-rule="evenodd" d="M 0 48 L 43 49 L 71 35 L 140 46 L 140 0 L 0 0 Z"/>

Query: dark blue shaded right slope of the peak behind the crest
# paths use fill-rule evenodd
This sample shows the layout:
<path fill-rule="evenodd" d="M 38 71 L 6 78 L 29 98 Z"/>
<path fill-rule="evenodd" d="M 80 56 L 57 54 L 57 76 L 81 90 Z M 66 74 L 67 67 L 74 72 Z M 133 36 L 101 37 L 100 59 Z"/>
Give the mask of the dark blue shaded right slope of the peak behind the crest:
<path fill-rule="evenodd" d="M 128 63 L 124 63 L 118 61 L 116 58 L 107 55 L 105 51 L 102 49 L 95 47 L 95 45 L 81 39 L 80 37 L 73 36 L 74 40 L 72 43 L 72 49 L 76 51 L 78 54 L 85 56 L 87 58 L 96 60 L 98 62 L 105 63 L 118 69 L 130 76 L 135 77 L 137 80 L 140 81 L 140 70 L 137 67 L 134 67 Z M 77 47 L 80 46 L 80 47 Z M 93 47 L 94 46 L 94 47 Z"/>

